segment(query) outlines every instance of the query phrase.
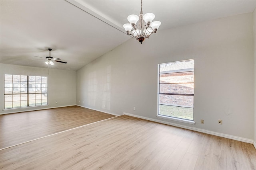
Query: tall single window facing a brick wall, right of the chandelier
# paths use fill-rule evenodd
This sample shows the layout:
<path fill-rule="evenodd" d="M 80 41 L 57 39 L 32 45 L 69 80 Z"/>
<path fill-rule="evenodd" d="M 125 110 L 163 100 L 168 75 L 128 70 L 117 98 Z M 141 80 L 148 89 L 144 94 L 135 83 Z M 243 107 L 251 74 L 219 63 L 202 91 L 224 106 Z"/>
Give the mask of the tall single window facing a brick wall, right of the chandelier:
<path fill-rule="evenodd" d="M 194 60 L 158 64 L 158 115 L 193 121 Z"/>

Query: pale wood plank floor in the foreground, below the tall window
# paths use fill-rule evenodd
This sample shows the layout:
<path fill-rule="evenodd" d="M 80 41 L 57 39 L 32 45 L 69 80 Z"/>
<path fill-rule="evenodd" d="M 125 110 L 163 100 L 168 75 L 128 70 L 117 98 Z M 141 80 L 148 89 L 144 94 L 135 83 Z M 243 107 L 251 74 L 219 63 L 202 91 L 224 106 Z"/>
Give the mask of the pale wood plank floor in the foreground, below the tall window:
<path fill-rule="evenodd" d="M 127 115 L 0 150 L 2 170 L 254 170 L 252 144 Z"/>

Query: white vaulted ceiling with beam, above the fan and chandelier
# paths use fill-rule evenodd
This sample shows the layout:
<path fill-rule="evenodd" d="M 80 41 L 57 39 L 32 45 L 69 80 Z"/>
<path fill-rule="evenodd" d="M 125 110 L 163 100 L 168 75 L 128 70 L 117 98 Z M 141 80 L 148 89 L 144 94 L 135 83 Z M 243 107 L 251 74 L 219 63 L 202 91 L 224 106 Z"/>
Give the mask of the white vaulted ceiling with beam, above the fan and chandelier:
<path fill-rule="evenodd" d="M 143 0 L 142 10 L 155 14 L 161 29 L 253 12 L 255 0 Z M 130 37 L 122 25 L 140 13 L 140 0 L 0 0 L 0 63 L 47 67 L 38 57 L 58 57 L 78 70 Z M 148 40 L 150 41 L 150 39 Z M 134 40 L 134 43 L 138 43 Z M 143 45 L 143 44 L 142 44 Z"/>

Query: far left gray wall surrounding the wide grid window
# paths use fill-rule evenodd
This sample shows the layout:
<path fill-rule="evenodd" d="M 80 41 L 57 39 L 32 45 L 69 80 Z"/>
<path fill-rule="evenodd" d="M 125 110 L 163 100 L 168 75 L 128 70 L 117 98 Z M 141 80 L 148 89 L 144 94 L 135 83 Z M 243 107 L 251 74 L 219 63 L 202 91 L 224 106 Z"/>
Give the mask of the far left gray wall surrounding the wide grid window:
<path fill-rule="evenodd" d="M 4 94 L 4 74 L 17 74 L 29 76 L 48 76 L 48 106 L 4 109 L 4 95 L 1 95 L 0 113 L 15 113 L 19 111 L 46 109 L 76 104 L 76 72 L 70 70 L 57 70 L 0 64 L 0 92 Z M 58 104 L 56 104 L 58 102 Z"/>

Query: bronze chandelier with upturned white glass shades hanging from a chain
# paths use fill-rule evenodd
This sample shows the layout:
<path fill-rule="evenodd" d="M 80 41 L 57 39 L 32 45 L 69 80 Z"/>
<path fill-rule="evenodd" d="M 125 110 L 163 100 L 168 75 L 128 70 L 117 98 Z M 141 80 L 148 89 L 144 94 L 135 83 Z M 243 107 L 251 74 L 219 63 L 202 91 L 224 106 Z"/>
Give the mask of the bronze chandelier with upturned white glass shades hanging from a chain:
<path fill-rule="evenodd" d="M 142 0 L 141 0 L 141 8 L 140 15 L 130 15 L 127 17 L 127 20 L 130 23 L 126 23 L 123 25 L 127 35 L 132 35 L 132 37 L 136 38 L 141 44 L 152 33 L 156 33 L 157 29 L 161 25 L 160 21 L 153 21 L 155 15 L 153 13 L 143 14 L 142 12 Z M 136 23 L 139 21 L 138 26 Z M 153 22 L 152 22 L 153 21 Z"/>

